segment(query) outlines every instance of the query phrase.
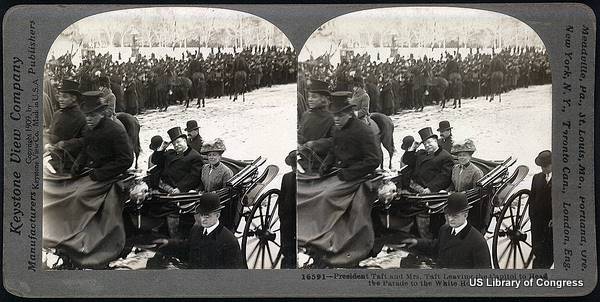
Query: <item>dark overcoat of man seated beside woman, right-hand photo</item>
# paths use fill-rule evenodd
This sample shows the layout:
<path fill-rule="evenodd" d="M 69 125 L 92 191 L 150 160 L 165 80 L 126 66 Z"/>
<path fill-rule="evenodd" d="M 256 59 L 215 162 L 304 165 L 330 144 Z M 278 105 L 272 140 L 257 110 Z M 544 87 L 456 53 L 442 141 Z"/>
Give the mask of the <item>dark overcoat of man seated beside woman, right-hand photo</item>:
<path fill-rule="evenodd" d="M 452 155 L 442 148 L 432 154 L 425 150 L 407 151 L 402 162 L 413 170 L 412 179 L 431 192 L 445 190 L 452 183 L 454 161 Z"/>

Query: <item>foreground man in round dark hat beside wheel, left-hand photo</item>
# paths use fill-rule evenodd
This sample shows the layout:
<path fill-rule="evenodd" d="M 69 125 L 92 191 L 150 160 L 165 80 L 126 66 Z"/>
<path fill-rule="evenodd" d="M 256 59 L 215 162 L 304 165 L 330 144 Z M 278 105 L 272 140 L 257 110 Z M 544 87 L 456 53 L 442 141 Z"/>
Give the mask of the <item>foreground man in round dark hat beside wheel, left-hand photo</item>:
<path fill-rule="evenodd" d="M 237 239 L 219 223 L 223 205 L 216 193 L 204 193 L 194 215 L 187 240 L 158 239 L 162 254 L 182 254 L 190 269 L 244 269 L 246 264 Z"/>

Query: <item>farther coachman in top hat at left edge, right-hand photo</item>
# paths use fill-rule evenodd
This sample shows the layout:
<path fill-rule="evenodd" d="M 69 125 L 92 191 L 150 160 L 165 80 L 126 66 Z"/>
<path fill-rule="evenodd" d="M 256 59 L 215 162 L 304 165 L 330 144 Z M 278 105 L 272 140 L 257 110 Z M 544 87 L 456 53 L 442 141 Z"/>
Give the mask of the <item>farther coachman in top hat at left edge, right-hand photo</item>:
<path fill-rule="evenodd" d="M 306 147 L 321 158 L 325 158 L 332 142 L 333 115 L 327 110 L 330 95 L 327 82 L 309 79 L 309 110 L 302 115 L 298 127 L 298 149 Z M 315 163 L 315 166 L 310 168 L 318 169 L 319 161 L 313 160 L 312 162 Z M 303 161 L 300 164 L 302 165 Z"/>

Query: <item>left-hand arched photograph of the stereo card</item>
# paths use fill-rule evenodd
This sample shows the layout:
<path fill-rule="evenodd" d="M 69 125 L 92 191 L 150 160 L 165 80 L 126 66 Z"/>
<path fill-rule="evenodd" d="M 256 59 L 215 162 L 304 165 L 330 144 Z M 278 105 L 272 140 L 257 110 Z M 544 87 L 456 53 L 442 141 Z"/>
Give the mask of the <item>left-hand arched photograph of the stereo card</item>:
<path fill-rule="evenodd" d="M 67 27 L 44 69 L 44 268 L 295 268 L 296 77 L 287 37 L 239 11 Z"/>

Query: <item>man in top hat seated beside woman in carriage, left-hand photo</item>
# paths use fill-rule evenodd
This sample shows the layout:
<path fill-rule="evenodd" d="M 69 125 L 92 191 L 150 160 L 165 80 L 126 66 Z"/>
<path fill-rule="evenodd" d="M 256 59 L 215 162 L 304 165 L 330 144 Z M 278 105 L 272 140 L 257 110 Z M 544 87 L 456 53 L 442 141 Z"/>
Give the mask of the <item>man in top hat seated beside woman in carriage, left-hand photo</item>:
<path fill-rule="evenodd" d="M 152 163 L 162 167 L 159 188 L 169 194 L 198 190 L 204 164 L 202 156 L 188 146 L 187 135 L 181 131 L 180 127 L 169 129 L 167 134 L 171 141 L 163 142 L 152 156 Z M 173 144 L 173 149 L 165 150 L 170 144 Z M 178 215 L 168 216 L 169 234 L 172 237 L 185 237 L 192 221 L 191 216 L 182 215 L 180 226 Z"/>

